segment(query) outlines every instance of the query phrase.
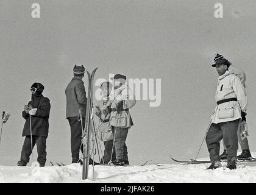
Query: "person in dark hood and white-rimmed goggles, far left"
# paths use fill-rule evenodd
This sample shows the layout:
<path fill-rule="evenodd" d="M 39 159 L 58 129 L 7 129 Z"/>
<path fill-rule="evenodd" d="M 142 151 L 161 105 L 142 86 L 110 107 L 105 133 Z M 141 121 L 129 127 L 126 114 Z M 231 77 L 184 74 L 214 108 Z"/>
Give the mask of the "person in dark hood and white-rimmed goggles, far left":
<path fill-rule="evenodd" d="M 23 137 L 25 137 L 24 144 L 21 150 L 21 158 L 18 161 L 18 166 L 26 166 L 29 162 L 31 149 L 37 144 L 37 161 L 40 166 L 44 166 L 46 162 L 46 138 L 49 131 L 49 114 L 51 104 L 48 98 L 43 96 L 44 86 L 41 83 L 34 83 L 30 91 L 32 92 L 32 100 L 28 105 L 25 105 L 22 113 L 23 118 L 26 119 Z M 31 109 L 30 109 L 31 108 Z M 30 116 L 31 124 L 30 124 Z M 30 126 L 32 129 L 32 136 L 30 136 Z"/>

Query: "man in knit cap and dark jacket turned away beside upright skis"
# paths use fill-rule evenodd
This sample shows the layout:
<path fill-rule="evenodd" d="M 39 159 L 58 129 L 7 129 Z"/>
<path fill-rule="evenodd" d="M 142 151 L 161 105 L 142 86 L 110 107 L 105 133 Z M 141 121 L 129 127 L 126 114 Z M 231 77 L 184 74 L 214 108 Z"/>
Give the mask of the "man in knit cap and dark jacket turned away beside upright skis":
<path fill-rule="evenodd" d="M 85 127 L 85 112 L 87 107 L 87 97 L 82 81 L 85 68 L 83 65 L 75 65 L 73 68 L 74 77 L 66 87 L 66 119 L 68 119 L 71 129 L 71 156 L 72 163 L 81 163 L 79 151 L 83 152 L 82 146 L 82 129 Z M 83 124 L 78 120 L 82 118 Z"/>

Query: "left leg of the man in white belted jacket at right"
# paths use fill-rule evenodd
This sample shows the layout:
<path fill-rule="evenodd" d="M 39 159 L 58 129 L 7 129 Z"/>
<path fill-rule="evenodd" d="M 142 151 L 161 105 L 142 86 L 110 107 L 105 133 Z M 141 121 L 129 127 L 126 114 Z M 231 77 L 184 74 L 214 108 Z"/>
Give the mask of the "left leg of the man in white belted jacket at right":
<path fill-rule="evenodd" d="M 219 124 L 212 123 L 205 137 L 208 152 L 210 154 L 210 160 L 212 161 L 212 163 L 216 161 L 220 161 L 219 141 L 221 141 L 221 139 L 222 139 L 221 127 L 219 126 Z"/>

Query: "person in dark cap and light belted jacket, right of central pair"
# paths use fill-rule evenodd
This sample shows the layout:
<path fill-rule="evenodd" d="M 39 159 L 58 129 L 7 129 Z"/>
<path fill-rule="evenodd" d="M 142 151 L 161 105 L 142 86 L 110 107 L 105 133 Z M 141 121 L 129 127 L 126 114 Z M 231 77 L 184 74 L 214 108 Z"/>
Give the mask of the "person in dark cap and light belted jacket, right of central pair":
<path fill-rule="evenodd" d="M 110 93 L 110 126 L 114 145 L 116 148 L 116 160 L 114 165 L 129 165 L 126 138 L 128 130 L 133 126 L 130 108 L 136 104 L 135 96 L 126 82 L 126 76 L 116 74 L 113 81 L 113 90 Z"/>

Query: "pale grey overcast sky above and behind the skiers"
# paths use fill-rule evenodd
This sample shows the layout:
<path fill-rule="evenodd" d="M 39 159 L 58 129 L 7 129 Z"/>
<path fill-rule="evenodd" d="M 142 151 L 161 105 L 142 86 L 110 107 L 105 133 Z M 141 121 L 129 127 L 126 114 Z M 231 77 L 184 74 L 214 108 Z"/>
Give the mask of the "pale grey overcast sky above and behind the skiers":
<path fill-rule="evenodd" d="M 215 108 L 216 52 L 246 72 L 249 146 L 256 151 L 256 2 L 219 1 L 224 18 L 215 18 L 217 1 L 36 1 L 41 18 L 32 18 L 35 1 L 0 1 L 0 110 L 10 112 L 0 145 L 0 165 L 16 165 L 24 138 L 24 104 L 30 86 L 43 83 L 51 101 L 49 161 L 71 162 L 65 118 L 65 88 L 73 66 L 85 65 L 96 79 L 109 73 L 161 79 L 162 102 L 138 101 L 130 109 L 130 163 L 169 163 L 169 155 L 195 157 Z M 84 77 L 87 89 L 87 77 Z M 37 152 L 35 151 L 35 154 Z M 204 143 L 199 157 L 208 156 Z"/>

